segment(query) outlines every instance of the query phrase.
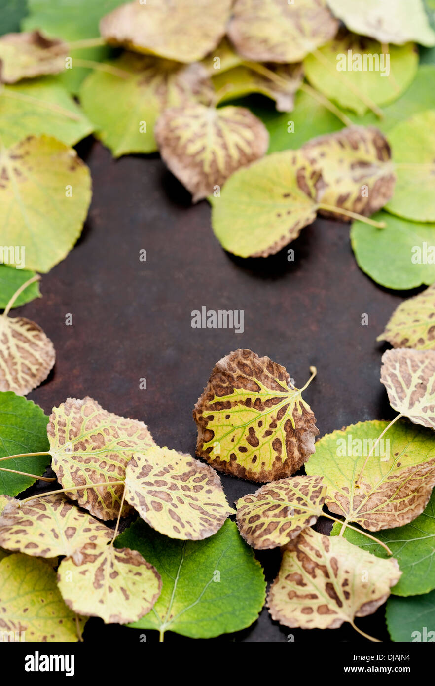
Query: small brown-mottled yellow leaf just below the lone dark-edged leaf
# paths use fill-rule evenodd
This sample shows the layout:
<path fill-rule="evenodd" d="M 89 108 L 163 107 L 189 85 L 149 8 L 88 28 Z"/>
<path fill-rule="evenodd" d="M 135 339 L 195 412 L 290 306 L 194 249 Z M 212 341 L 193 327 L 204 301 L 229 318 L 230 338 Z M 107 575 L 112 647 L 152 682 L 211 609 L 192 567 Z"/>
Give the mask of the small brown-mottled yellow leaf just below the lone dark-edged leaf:
<path fill-rule="evenodd" d="M 316 523 L 325 495 L 326 486 L 318 476 L 288 477 L 266 484 L 236 501 L 238 530 L 258 550 L 285 545 Z"/>

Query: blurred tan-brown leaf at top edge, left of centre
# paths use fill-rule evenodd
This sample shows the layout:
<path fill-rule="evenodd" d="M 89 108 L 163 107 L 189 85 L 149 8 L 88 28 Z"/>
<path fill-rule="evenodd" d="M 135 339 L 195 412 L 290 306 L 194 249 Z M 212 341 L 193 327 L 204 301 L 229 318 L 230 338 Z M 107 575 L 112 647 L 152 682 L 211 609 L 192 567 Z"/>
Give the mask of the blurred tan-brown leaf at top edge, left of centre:
<path fill-rule="evenodd" d="M 123 45 L 178 62 L 205 57 L 225 34 L 232 0 L 159 0 L 121 5 L 100 21 L 101 36 Z M 183 27 L 182 30 L 180 28 Z"/>

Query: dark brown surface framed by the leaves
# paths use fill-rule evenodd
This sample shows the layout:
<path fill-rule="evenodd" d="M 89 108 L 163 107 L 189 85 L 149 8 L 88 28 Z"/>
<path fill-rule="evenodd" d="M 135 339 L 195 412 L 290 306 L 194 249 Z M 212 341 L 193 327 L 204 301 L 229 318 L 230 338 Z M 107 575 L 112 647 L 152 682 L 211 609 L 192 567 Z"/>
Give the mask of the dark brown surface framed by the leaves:
<path fill-rule="evenodd" d="M 88 221 L 77 246 L 43 276 L 44 297 L 19 311 L 55 344 L 53 372 L 29 395 L 47 414 L 66 397 L 88 394 L 111 412 L 145 421 L 159 445 L 194 454 L 192 407 L 215 362 L 243 347 L 284 365 L 299 388 L 310 365 L 317 366 L 304 398 L 320 436 L 394 416 L 379 382 L 385 346 L 375 338 L 411 293 L 387 292 L 360 272 L 349 224 L 316 220 L 304 228 L 291 246 L 294 263 L 286 248 L 268 259 L 234 258 L 214 238 L 208 203 L 192 206 L 158 155 L 115 161 L 91 139 L 78 150 L 93 180 Z M 142 248 L 145 263 L 139 261 Z M 245 310 L 245 332 L 192 329 L 190 312 L 203 305 Z M 72 327 L 65 325 L 68 313 Z M 369 326 L 361 325 L 363 313 Z M 140 377 L 147 390 L 139 390 Z M 258 488 L 222 480 L 230 504 Z M 258 558 L 273 580 L 279 552 Z M 388 640 L 384 608 L 357 624 Z M 140 633 L 91 619 L 84 638 L 135 643 Z M 290 630 L 272 622 L 266 610 L 249 629 L 216 640 L 286 641 L 290 633 L 296 641 L 364 641 L 349 625 Z M 157 632 L 147 631 L 147 641 L 156 639 Z M 179 640 L 188 639 L 165 637 Z"/>

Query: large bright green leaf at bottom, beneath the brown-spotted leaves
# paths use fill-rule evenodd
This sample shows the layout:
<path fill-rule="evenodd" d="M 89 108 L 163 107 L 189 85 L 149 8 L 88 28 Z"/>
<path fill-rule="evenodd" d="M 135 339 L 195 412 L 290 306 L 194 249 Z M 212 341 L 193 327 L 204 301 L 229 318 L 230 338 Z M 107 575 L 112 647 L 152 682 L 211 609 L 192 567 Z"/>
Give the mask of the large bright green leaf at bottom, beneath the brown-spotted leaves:
<path fill-rule="evenodd" d="M 256 621 L 266 584 L 260 563 L 234 522 L 204 541 L 168 539 L 138 520 L 116 539 L 156 567 L 163 588 L 153 610 L 130 626 L 213 638 Z"/>

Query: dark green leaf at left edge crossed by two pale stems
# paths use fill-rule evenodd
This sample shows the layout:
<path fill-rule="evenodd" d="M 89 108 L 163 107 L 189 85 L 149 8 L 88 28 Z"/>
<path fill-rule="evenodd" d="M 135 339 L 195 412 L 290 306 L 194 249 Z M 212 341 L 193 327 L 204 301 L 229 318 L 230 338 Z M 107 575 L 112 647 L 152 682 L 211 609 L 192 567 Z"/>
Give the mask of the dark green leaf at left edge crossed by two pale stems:
<path fill-rule="evenodd" d="M 0 458 L 21 453 L 40 453 L 49 449 L 47 423 L 49 418 L 39 405 L 8 391 L 0 392 Z M 0 466 L 41 475 L 50 464 L 50 456 L 3 460 Z M 36 480 L 31 477 L 0 471 L 0 493 L 18 495 Z"/>

